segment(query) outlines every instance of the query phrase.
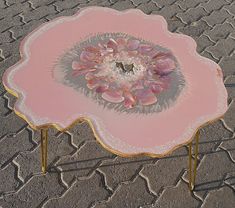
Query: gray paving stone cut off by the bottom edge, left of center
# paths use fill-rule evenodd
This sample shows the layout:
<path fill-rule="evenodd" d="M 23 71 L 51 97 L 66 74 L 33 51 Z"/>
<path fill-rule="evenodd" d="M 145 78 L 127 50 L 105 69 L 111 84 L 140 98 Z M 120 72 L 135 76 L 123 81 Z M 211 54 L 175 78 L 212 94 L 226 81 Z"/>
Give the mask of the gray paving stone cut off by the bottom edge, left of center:
<path fill-rule="evenodd" d="M 58 199 L 46 202 L 45 208 L 90 207 L 97 201 L 105 200 L 110 192 L 104 188 L 103 179 L 98 173 L 90 178 L 78 180 Z"/>

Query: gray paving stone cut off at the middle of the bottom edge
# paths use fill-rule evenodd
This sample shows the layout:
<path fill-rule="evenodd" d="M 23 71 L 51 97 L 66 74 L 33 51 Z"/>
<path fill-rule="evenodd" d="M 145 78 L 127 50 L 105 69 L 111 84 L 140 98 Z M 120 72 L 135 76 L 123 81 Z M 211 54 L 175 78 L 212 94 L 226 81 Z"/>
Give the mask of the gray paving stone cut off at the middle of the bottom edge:
<path fill-rule="evenodd" d="M 107 202 L 96 204 L 94 208 L 136 208 L 150 204 L 154 198 L 149 193 L 145 179 L 139 176 L 133 182 L 122 183 Z"/>

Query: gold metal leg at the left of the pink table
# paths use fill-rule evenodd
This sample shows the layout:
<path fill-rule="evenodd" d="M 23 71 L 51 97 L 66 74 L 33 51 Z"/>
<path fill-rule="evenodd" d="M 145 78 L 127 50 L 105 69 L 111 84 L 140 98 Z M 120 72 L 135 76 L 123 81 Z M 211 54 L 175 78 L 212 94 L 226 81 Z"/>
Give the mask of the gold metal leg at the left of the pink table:
<path fill-rule="evenodd" d="M 41 164 L 42 172 L 46 173 L 47 168 L 47 140 L 48 140 L 48 129 L 41 129 Z"/>

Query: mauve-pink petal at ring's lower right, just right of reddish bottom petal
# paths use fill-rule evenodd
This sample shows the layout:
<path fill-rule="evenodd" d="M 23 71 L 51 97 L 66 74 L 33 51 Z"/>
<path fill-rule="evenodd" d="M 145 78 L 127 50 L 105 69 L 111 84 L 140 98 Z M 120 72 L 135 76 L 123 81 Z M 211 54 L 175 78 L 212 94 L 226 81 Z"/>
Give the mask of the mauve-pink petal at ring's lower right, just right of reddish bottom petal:
<path fill-rule="evenodd" d="M 137 90 L 135 94 L 141 105 L 151 105 L 157 102 L 156 96 L 150 89 Z"/>

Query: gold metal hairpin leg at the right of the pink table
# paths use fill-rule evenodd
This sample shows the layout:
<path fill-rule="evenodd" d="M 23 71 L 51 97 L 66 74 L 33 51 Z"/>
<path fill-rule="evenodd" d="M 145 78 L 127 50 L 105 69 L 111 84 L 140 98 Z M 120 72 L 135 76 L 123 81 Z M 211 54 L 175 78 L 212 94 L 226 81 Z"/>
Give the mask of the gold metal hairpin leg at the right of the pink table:
<path fill-rule="evenodd" d="M 199 142 L 200 132 L 196 133 L 196 143 L 195 143 L 195 154 L 194 154 L 194 168 L 192 173 L 192 142 L 189 143 L 189 189 L 192 191 L 195 187 L 196 175 L 197 175 L 197 157 L 198 157 L 198 142 Z"/>

